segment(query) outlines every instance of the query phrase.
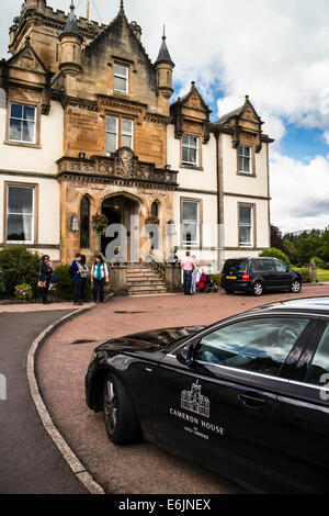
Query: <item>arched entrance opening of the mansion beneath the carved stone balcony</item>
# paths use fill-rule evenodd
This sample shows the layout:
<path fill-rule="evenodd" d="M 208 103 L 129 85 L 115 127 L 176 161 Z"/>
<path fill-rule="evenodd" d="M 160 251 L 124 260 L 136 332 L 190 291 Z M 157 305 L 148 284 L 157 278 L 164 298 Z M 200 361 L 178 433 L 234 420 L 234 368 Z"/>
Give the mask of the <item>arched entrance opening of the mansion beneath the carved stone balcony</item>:
<path fill-rule="evenodd" d="M 127 236 L 126 258 L 128 262 L 139 261 L 141 206 L 143 203 L 139 198 L 127 193 L 115 193 L 106 197 L 101 205 L 101 212 L 109 218 L 110 226 L 121 224 L 125 227 Z M 102 236 L 101 238 L 101 250 L 104 256 L 106 256 L 107 246 L 118 239 L 118 233 L 114 229 L 115 227 L 113 227 L 112 237 Z M 118 245 L 118 255 L 121 254 L 121 247 L 124 249 L 124 244 Z"/>

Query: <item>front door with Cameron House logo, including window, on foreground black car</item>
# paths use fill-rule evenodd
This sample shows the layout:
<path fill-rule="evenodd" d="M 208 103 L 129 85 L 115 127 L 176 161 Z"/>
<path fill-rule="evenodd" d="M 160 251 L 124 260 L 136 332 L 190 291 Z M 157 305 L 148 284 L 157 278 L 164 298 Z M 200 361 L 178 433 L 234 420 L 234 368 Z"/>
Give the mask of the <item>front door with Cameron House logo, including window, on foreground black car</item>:
<path fill-rule="evenodd" d="M 287 383 L 280 371 L 308 323 L 249 316 L 201 336 L 191 366 L 168 355 L 152 391 L 157 440 L 222 474 L 273 489 L 272 412 Z"/>

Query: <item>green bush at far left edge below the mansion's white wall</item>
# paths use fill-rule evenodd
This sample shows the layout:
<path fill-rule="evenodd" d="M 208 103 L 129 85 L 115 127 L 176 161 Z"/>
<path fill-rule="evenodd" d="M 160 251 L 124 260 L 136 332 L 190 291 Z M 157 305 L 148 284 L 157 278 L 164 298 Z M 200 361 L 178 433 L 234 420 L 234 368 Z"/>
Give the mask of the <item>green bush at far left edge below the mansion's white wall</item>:
<path fill-rule="evenodd" d="M 34 294 L 37 293 L 41 258 L 37 253 L 31 253 L 27 247 L 18 245 L 0 250 L 0 270 L 4 276 L 4 290 L 12 294 L 15 285 L 27 283 Z"/>

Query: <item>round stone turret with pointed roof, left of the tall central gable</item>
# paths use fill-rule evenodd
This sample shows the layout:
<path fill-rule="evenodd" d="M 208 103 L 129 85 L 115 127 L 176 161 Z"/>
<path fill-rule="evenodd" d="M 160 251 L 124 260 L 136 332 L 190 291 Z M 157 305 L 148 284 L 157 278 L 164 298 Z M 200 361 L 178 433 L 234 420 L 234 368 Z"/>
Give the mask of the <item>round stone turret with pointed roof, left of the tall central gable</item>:
<path fill-rule="evenodd" d="M 71 76 L 80 74 L 81 67 L 81 47 L 83 37 L 80 34 L 77 16 L 75 14 L 73 0 L 70 5 L 70 13 L 63 33 L 59 35 L 61 46 L 60 71 Z"/>

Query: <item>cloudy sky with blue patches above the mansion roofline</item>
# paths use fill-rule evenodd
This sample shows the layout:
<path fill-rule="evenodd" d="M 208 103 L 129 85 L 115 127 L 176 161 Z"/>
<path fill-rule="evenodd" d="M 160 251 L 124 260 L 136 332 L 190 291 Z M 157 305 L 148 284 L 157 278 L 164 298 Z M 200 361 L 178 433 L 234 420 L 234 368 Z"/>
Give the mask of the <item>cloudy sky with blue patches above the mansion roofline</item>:
<path fill-rule="evenodd" d="M 70 0 L 48 0 L 68 11 Z M 76 0 L 86 15 L 87 0 Z M 91 0 L 109 23 L 118 0 Z M 0 0 L 0 58 L 20 0 Z M 271 146 L 272 223 L 286 231 L 329 225 L 328 0 L 125 0 L 155 59 L 166 23 L 175 94 L 196 80 L 216 120 L 248 93 Z"/>

